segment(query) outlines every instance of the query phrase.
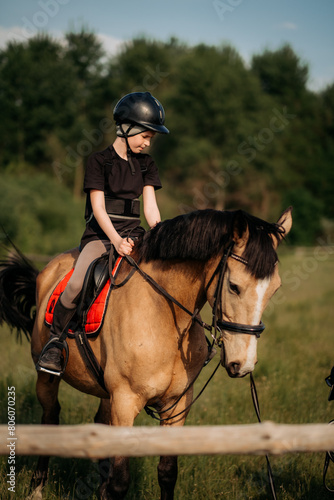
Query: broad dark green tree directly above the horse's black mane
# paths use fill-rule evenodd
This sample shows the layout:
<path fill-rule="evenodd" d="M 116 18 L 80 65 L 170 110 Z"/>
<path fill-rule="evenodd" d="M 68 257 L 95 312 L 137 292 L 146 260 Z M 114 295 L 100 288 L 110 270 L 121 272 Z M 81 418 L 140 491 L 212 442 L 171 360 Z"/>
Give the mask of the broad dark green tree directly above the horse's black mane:
<path fill-rule="evenodd" d="M 172 134 L 160 152 L 173 190 L 175 181 L 180 191 L 186 186 L 187 207 L 225 208 L 238 202 L 254 208 L 251 196 L 239 194 L 259 165 L 258 153 L 250 161 L 242 144 L 259 130 L 257 124 L 269 120 L 271 101 L 258 78 L 232 47 L 199 45 L 184 51 L 173 80 L 175 90 L 167 99 Z"/>

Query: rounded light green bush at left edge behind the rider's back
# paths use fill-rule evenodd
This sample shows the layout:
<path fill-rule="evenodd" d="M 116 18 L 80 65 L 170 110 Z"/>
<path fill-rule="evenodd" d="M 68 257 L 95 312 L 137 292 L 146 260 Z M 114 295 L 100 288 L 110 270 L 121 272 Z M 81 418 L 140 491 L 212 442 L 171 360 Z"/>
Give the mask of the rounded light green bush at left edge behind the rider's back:
<path fill-rule="evenodd" d="M 54 255 L 78 246 L 83 213 L 83 202 L 55 179 L 2 175 L 0 224 L 23 252 Z"/>

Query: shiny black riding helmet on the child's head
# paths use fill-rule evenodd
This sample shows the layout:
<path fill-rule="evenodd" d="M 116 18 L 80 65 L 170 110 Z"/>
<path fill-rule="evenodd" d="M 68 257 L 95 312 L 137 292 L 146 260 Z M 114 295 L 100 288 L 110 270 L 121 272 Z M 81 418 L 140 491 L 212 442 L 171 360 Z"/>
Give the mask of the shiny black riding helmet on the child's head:
<path fill-rule="evenodd" d="M 126 123 L 139 125 L 159 134 L 169 133 L 164 126 L 164 108 L 150 92 L 132 92 L 122 97 L 115 106 L 114 120 L 116 125 Z M 131 128 L 123 131 L 125 137 L 129 135 Z"/>

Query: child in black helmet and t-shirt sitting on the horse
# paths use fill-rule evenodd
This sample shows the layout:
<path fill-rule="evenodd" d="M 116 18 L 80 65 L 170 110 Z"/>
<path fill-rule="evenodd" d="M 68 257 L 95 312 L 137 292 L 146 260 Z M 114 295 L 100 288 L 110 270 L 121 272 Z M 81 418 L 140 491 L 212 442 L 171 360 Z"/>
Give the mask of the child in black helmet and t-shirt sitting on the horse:
<path fill-rule="evenodd" d="M 116 104 L 114 119 L 115 142 L 88 159 L 84 180 L 87 226 L 74 272 L 56 303 L 50 341 L 36 365 L 38 371 L 62 374 L 62 341 L 75 314 L 87 269 L 111 245 L 119 255 L 130 255 L 134 239 L 144 231 L 139 196 L 143 195 L 148 225 L 152 228 L 160 222 L 155 197 L 155 190 L 161 188 L 158 169 L 153 159 L 141 152 L 156 133 L 168 134 L 164 109 L 149 92 L 133 92 Z"/>

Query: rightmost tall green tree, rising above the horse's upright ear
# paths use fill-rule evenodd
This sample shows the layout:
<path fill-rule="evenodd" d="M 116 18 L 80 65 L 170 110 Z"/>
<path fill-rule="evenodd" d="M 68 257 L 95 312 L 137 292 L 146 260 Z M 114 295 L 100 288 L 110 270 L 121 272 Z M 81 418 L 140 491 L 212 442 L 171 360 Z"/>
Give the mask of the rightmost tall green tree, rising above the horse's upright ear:
<path fill-rule="evenodd" d="M 331 92 L 321 98 L 307 89 L 308 66 L 289 45 L 255 55 L 252 71 L 263 91 L 273 98 L 276 108 L 281 112 L 285 110 L 291 117 L 284 133 L 280 134 L 277 152 L 283 161 L 276 192 L 285 200 L 283 204 L 295 204 L 294 218 L 299 228 L 295 229 L 294 241 L 311 241 L 315 235 L 311 229 L 314 224 L 306 216 L 312 212 L 319 229 L 320 217 L 333 214 L 333 174 L 328 163 L 332 140 L 330 128 L 326 129 L 333 109 Z M 322 203 L 324 198 L 328 204 Z M 308 204 L 309 211 L 306 210 Z M 299 223 L 299 211 L 305 217 L 304 224 Z"/>

